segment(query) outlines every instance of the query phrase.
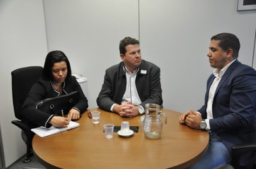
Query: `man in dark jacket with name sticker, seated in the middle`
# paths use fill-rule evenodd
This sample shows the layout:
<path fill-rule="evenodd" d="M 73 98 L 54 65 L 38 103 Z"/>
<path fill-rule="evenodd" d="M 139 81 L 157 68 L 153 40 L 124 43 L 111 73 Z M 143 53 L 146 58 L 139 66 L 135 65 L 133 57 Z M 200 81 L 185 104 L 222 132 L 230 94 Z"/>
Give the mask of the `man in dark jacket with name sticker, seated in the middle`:
<path fill-rule="evenodd" d="M 97 98 L 99 108 L 135 117 L 145 113 L 147 103 L 162 105 L 160 68 L 141 59 L 140 42 L 126 37 L 119 50 L 122 62 L 106 70 Z"/>

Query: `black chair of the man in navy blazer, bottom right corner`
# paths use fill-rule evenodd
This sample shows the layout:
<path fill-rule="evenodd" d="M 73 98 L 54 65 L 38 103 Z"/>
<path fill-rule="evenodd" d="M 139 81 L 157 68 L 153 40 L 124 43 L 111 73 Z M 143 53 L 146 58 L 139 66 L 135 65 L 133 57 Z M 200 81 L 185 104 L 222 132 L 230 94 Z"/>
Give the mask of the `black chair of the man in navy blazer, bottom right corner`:
<path fill-rule="evenodd" d="M 239 143 L 237 145 L 232 146 L 232 149 L 231 149 L 232 166 L 234 166 L 235 169 L 238 169 L 238 168 L 256 169 L 256 162 L 254 165 L 251 165 L 251 166 L 241 166 L 240 165 L 241 156 L 246 152 L 252 152 L 252 151 L 256 151 L 256 143 Z M 254 158 L 256 158 L 256 157 L 254 157 Z M 253 160 L 253 161 L 255 161 L 255 160 Z"/>

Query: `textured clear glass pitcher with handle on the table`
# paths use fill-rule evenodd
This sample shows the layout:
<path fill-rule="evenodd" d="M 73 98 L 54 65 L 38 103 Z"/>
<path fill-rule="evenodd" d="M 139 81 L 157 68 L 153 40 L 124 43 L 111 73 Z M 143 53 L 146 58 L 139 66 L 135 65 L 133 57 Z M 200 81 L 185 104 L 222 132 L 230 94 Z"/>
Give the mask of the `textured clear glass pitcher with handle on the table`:
<path fill-rule="evenodd" d="M 151 139 L 160 138 L 163 129 L 160 114 L 164 115 L 164 124 L 167 124 L 166 114 L 160 110 L 159 105 L 154 103 L 147 103 L 145 108 L 145 118 L 142 123 L 144 135 Z"/>

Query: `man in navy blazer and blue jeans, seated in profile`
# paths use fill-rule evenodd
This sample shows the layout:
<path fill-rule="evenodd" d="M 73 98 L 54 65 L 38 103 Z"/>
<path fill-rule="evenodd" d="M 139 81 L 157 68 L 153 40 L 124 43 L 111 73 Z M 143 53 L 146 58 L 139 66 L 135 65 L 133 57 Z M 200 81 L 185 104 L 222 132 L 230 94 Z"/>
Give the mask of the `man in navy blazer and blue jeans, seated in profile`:
<path fill-rule="evenodd" d="M 180 115 L 181 124 L 209 131 L 207 152 L 191 168 L 230 163 L 232 145 L 256 142 L 256 71 L 237 61 L 239 48 L 234 34 L 212 36 L 207 56 L 215 69 L 207 80 L 205 104 Z"/>

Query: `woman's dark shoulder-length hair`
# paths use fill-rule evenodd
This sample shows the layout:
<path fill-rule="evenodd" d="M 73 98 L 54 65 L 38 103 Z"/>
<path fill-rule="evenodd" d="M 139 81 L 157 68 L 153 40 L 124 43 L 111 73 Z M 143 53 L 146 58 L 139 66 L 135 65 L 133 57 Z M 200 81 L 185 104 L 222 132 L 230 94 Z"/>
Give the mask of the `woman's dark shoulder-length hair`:
<path fill-rule="evenodd" d="M 60 50 L 54 50 L 52 52 L 49 52 L 49 54 L 47 54 L 44 62 L 43 78 L 45 80 L 53 81 L 52 67 L 54 63 L 62 62 L 62 61 L 65 61 L 67 64 L 67 69 L 68 69 L 67 78 L 69 78 L 71 76 L 70 62 L 68 61 L 67 56 Z"/>

